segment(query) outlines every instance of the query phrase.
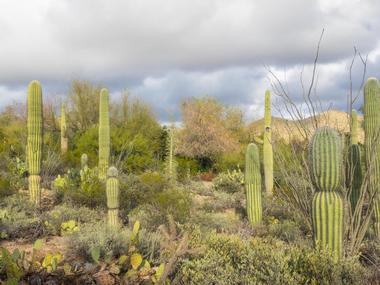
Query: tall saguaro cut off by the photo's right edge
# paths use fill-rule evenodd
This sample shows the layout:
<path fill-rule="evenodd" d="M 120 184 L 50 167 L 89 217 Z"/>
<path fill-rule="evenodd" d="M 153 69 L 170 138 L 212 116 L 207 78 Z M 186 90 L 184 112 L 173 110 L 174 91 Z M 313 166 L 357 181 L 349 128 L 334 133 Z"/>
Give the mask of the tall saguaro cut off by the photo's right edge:
<path fill-rule="evenodd" d="M 369 78 L 364 85 L 364 132 L 367 169 L 370 169 L 369 191 L 376 193 L 374 201 L 375 233 L 380 239 L 380 85 Z"/>

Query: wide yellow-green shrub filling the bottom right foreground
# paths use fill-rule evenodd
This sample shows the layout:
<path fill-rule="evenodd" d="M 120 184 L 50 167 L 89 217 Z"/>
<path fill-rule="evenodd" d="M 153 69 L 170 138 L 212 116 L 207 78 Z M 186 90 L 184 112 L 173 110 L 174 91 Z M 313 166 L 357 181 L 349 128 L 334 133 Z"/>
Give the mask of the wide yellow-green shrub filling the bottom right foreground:
<path fill-rule="evenodd" d="M 278 240 L 210 234 L 205 251 L 182 261 L 182 284 L 366 284 L 357 259 L 335 263 L 326 252 Z"/>

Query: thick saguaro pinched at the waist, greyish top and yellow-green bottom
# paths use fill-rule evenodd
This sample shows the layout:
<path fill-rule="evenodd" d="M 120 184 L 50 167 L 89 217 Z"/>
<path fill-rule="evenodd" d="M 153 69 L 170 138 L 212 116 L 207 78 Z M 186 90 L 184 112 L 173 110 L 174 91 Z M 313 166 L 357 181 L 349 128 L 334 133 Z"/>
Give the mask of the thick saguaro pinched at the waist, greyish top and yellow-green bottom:
<path fill-rule="evenodd" d="M 336 191 L 342 177 L 342 141 L 334 129 L 322 127 L 309 147 L 310 173 L 317 190 L 312 203 L 314 241 L 338 260 L 343 244 L 343 199 Z"/>

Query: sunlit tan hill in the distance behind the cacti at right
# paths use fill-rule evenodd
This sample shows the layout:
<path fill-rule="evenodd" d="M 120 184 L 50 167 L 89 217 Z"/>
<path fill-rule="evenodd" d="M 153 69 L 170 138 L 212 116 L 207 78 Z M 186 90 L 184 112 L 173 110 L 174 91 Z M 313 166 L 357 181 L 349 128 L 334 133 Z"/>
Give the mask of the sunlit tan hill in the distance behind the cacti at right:
<path fill-rule="evenodd" d="M 272 117 L 272 139 L 285 141 L 289 140 L 302 140 L 303 130 L 313 133 L 315 129 L 315 123 L 318 127 L 329 126 L 340 133 L 348 133 L 350 131 L 349 117 L 346 112 L 338 110 L 329 110 L 327 112 L 320 113 L 315 116 L 315 120 L 312 117 L 305 118 L 301 121 L 287 120 L 278 117 Z M 364 142 L 364 130 L 362 128 L 363 116 L 358 115 L 359 121 L 359 142 Z M 248 125 L 248 132 L 253 136 L 259 136 L 264 130 L 264 119 L 260 119 L 252 122 Z"/>

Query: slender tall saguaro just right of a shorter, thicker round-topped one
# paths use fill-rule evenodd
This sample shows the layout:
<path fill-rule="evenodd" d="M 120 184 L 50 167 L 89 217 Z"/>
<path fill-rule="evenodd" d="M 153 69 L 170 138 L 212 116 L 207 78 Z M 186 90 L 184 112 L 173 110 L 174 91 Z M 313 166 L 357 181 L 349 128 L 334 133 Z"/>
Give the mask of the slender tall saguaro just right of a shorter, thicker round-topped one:
<path fill-rule="evenodd" d="M 273 149 L 272 149 L 272 129 L 271 129 L 271 106 L 270 92 L 265 92 L 265 111 L 264 111 L 264 138 L 263 138 L 263 160 L 265 190 L 267 195 L 273 194 Z"/>

